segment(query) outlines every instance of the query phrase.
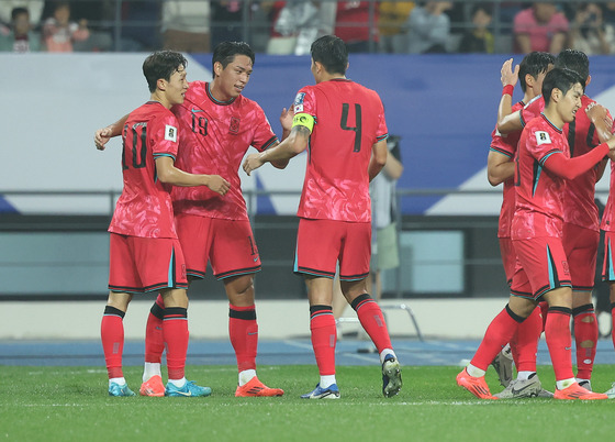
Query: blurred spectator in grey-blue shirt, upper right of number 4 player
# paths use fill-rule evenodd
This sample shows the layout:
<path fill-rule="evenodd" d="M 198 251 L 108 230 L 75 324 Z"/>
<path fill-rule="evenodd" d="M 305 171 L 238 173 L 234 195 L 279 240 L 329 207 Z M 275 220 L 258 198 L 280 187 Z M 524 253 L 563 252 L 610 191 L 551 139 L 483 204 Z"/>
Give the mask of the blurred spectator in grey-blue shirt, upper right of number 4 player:
<path fill-rule="evenodd" d="M 407 19 L 407 53 L 446 52 L 450 36 L 450 19 L 445 11 L 451 7 L 450 1 L 427 1 L 412 10 Z"/>

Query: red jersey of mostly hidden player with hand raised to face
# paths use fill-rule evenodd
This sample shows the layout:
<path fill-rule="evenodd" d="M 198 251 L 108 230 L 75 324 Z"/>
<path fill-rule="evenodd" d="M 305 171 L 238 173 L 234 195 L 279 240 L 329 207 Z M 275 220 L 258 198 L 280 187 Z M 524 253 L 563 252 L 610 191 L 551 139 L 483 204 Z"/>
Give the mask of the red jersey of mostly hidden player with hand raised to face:
<path fill-rule="evenodd" d="M 516 112 L 524 108 L 525 103 L 519 101 L 513 104 L 512 111 Z M 514 161 L 515 153 L 517 152 L 517 144 L 521 137 L 521 131 L 511 132 L 508 134 L 501 134 L 497 128 L 491 133 L 490 151 L 497 152 L 499 154 L 506 155 L 511 161 Z M 514 179 L 504 181 L 504 189 L 502 190 L 502 208 L 500 209 L 500 220 L 497 223 L 497 237 L 511 237 L 511 223 L 513 222 L 513 214 L 515 213 L 515 186 Z"/>

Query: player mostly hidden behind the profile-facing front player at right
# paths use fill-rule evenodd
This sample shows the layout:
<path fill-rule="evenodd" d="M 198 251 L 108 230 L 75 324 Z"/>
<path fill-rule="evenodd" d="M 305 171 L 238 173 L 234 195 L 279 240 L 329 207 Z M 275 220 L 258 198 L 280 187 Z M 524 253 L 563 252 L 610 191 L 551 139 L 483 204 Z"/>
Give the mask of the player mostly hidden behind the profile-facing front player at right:
<path fill-rule="evenodd" d="M 556 67 L 571 69 L 585 85 L 591 81 L 590 62 L 580 51 L 566 49 L 556 58 Z M 574 120 L 563 126 L 570 146 L 570 156 L 579 156 L 591 151 L 611 137 L 611 124 L 592 123 L 586 110 L 597 103 L 586 95 L 581 97 L 582 107 Z M 544 108 L 544 100 L 537 99 L 523 109 L 517 122 L 524 124 L 536 117 Z M 610 118 L 610 114 L 607 114 Z M 572 317 L 577 355 L 577 379 L 591 390 L 591 374 L 599 336 L 597 321 L 592 303 L 592 289 L 595 279 L 597 245 L 600 241 L 600 217 L 595 205 L 595 184 L 602 177 L 606 159 L 577 179 L 569 181 L 564 192 L 563 247 L 571 273 Z"/>

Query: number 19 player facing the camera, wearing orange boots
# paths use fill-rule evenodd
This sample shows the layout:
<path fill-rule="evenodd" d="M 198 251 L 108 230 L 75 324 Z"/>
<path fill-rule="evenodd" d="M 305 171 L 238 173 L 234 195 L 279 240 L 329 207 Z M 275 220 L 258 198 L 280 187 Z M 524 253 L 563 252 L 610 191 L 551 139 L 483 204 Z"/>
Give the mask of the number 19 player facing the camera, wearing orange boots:
<path fill-rule="evenodd" d="M 171 108 L 182 134 L 178 167 L 193 174 L 220 174 L 231 183 L 224 197 L 205 188 L 191 188 L 175 189 L 172 200 L 189 280 L 203 278 L 209 261 L 214 276 L 224 283 L 230 300 L 228 334 L 239 372 L 235 396 L 282 396 L 283 390 L 267 387 L 256 376 L 258 324 L 254 275 L 261 267 L 238 175 L 250 145 L 265 151 L 278 144 L 262 109 L 242 95 L 254 63 L 255 54 L 246 43 L 219 44 L 212 57 L 213 80 L 191 81 L 185 102 Z M 284 110 L 280 121 L 290 131 L 292 115 Z M 122 120 L 99 130 L 96 142 L 105 143 L 118 134 L 121 125 Z M 165 311 L 166 303 L 158 297 L 146 325 L 141 388 L 145 396 L 161 388 L 160 325 Z"/>

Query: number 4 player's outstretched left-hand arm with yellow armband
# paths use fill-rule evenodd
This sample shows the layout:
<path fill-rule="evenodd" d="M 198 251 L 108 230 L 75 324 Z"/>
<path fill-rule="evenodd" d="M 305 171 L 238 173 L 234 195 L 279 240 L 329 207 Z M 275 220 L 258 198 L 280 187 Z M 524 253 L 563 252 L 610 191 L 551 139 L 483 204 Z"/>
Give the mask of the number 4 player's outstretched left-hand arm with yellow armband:
<path fill-rule="evenodd" d="M 265 163 L 289 161 L 308 148 L 308 142 L 314 128 L 314 117 L 306 113 L 299 113 L 293 118 L 293 126 L 289 136 L 275 147 L 270 147 L 259 154 L 251 154 L 246 157 L 243 168 L 248 174 L 256 170 Z"/>

